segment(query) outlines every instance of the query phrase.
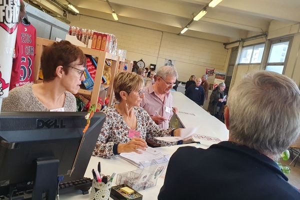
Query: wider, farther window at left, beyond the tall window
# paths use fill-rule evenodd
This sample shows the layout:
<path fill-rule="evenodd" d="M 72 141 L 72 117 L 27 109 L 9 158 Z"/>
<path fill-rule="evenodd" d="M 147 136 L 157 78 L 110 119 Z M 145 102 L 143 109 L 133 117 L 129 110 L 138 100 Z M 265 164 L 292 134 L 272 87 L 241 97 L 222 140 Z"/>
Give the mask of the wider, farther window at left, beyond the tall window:
<path fill-rule="evenodd" d="M 245 46 L 241 50 L 241 55 L 239 58 L 239 63 L 260 63 L 262 58 L 262 53 L 264 49 L 263 44 L 257 44 L 253 46 Z"/>

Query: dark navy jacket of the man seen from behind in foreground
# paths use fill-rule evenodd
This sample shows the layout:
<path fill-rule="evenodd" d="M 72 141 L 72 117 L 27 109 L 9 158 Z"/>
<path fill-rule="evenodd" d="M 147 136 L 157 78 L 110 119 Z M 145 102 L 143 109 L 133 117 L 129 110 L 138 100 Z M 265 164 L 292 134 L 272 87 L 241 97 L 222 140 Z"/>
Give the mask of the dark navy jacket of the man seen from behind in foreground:
<path fill-rule="evenodd" d="M 269 157 L 223 141 L 207 149 L 180 147 L 171 156 L 159 200 L 300 199 L 300 192 Z"/>

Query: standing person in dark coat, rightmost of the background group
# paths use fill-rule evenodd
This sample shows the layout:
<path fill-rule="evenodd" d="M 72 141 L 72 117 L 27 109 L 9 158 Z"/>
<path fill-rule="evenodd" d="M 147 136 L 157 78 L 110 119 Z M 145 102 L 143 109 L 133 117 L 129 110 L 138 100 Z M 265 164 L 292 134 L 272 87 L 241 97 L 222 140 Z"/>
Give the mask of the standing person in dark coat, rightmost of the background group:
<path fill-rule="evenodd" d="M 220 119 L 224 104 L 226 103 L 226 95 L 224 94 L 225 83 L 221 82 L 212 91 L 209 97 L 208 111 L 211 115 Z"/>

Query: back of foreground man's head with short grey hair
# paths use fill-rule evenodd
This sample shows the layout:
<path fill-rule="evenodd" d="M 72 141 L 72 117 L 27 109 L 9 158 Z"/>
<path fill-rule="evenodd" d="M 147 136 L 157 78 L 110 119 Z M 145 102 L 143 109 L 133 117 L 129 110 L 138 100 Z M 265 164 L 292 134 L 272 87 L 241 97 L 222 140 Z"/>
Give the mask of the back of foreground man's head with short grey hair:
<path fill-rule="evenodd" d="M 300 132 L 300 91 L 275 72 L 247 74 L 230 90 L 229 138 L 277 158 Z"/>

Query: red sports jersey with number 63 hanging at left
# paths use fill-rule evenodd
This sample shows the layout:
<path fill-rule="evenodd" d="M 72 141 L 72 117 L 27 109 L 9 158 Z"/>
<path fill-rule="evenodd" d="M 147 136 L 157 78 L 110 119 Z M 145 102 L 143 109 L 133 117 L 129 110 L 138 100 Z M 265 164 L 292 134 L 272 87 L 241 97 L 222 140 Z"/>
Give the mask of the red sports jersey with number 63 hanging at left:
<path fill-rule="evenodd" d="M 33 83 L 36 30 L 32 24 L 19 23 L 15 39 L 15 59 L 12 62 L 9 90 Z"/>

